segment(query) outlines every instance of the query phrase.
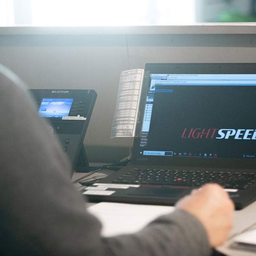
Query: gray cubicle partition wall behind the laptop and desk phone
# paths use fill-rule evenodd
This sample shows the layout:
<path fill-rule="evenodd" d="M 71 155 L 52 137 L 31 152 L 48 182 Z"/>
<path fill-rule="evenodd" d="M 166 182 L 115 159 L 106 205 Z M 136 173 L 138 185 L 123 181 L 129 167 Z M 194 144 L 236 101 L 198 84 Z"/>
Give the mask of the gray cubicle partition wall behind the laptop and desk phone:
<path fill-rule="evenodd" d="M 31 89 L 95 89 L 98 98 L 84 141 L 89 161 L 95 162 L 121 160 L 133 142 L 110 139 L 121 71 L 143 69 L 145 63 L 256 61 L 254 27 L 248 33 L 244 26 L 235 31 L 210 28 L 212 33 L 187 27 L 178 32 L 165 28 L 162 33 L 154 29 L 145 33 L 143 27 L 142 33 L 62 31 L 21 33 L 0 28 L 0 63 Z"/>

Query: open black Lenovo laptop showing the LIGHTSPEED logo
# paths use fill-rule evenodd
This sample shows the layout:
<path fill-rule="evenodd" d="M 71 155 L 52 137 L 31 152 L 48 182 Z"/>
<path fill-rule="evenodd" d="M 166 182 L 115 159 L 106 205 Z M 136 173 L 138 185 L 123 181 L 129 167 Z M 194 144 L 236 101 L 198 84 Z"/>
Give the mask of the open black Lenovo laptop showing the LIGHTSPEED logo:
<path fill-rule="evenodd" d="M 84 194 L 174 205 L 206 183 L 236 209 L 256 199 L 256 63 L 148 63 L 131 164 Z"/>

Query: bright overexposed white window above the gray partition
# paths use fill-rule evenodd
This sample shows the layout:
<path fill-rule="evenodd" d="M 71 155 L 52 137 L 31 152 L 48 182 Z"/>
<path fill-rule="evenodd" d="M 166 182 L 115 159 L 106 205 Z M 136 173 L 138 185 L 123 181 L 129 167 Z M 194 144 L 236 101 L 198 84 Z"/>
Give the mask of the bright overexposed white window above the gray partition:
<path fill-rule="evenodd" d="M 0 26 L 143 26 L 195 22 L 195 0 L 0 0 Z"/>

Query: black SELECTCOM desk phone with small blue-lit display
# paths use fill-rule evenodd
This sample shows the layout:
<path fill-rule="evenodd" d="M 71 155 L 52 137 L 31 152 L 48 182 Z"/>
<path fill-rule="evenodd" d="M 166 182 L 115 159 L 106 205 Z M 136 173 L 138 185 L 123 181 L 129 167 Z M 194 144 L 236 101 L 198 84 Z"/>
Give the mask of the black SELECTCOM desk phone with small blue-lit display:
<path fill-rule="evenodd" d="M 47 119 L 70 160 L 70 173 L 89 172 L 83 146 L 85 133 L 93 112 L 97 94 L 94 90 L 30 89 L 39 116 Z"/>

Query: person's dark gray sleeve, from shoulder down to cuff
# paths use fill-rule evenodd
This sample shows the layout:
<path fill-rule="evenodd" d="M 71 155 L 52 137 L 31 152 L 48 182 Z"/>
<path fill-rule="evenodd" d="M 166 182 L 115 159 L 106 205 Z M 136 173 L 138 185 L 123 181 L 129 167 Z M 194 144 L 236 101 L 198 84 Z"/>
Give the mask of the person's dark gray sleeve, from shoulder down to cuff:
<path fill-rule="evenodd" d="M 210 255 L 204 227 L 182 210 L 136 234 L 102 238 L 101 224 L 70 183 L 67 160 L 22 82 L 1 69 L 0 232 L 7 230 L 5 239 L 17 240 L 22 250 L 33 251 L 30 255 Z"/>

